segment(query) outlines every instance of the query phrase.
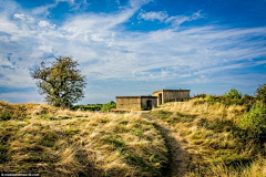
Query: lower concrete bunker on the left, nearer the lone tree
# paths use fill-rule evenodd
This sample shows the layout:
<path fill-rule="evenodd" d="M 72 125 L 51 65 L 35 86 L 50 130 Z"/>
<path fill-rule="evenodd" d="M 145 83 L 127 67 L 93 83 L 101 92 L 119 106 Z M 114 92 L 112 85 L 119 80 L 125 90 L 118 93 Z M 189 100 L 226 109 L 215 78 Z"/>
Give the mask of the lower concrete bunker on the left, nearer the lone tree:
<path fill-rule="evenodd" d="M 116 110 L 152 110 L 157 106 L 156 96 L 116 96 Z"/>

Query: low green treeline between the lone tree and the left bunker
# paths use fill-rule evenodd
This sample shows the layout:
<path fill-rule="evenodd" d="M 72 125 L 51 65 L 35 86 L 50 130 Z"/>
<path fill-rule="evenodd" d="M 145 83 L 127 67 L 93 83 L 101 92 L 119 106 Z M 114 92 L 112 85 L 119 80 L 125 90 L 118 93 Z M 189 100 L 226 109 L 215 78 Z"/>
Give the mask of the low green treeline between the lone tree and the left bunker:
<path fill-rule="evenodd" d="M 115 102 L 111 101 L 106 104 L 88 104 L 88 105 L 73 105 L 71 106 L 71 110 L 76 111 L 102 111 L 102 112 L 108 112 L 111 108 L 115 108 L 116 104 Z"/>

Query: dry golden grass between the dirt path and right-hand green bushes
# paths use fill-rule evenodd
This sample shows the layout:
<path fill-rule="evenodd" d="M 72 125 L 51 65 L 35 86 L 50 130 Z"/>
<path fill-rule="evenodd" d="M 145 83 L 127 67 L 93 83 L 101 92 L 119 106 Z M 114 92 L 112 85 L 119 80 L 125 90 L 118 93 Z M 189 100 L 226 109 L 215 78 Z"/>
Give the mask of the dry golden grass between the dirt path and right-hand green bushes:
<path fill-rule="evenodd" d="M 266 176 L 266 159 L 243 145 L 234 131 L 246 107 L 206 100 L 172 102 L 153 111 L 183 138 L 191 156 L 187 176 Z"/>

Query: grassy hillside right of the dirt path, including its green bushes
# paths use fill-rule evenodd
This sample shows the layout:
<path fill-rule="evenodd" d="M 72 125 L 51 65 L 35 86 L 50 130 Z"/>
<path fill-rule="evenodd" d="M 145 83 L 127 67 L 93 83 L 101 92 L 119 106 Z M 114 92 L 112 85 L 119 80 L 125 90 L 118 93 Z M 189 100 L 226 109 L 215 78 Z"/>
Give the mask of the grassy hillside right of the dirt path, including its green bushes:
<path fill-rule="evenodd" d="M 166 103 L 152 114 L 181 137 L 183 150 L 190 156 L 186 176 L 266 176 L 263 105 L 248 108 L 205 97 Z"/>

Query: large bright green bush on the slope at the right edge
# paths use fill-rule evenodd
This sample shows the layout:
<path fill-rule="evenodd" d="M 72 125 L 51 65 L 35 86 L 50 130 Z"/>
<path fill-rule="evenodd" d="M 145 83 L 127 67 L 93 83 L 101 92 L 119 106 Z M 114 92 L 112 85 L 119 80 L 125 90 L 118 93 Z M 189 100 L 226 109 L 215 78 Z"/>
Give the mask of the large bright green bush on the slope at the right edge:
<path fill-rule="evenodd" d="M 262 146 L 266 143 L 266 107 L 262 101 L 241 118 L 239 128 L 246 143 L 254 142 Z"/>

